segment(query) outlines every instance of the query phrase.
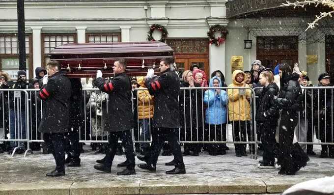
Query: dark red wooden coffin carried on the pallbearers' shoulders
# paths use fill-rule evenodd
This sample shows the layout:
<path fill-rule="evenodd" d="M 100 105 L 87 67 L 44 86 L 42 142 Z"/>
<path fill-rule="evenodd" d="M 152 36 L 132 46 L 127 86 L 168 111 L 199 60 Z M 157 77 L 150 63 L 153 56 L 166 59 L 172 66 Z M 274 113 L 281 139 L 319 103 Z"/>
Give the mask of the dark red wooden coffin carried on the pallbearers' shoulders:
<path fill-rule="evenodd" d="M 129 76 L 143 76 L 148 68 L 159 73 L 160 60 L 173 57 L 173 50 L 158 41 L 83 43 L 58 46 L 49 56 L 51 60 L 59 61 L 69 78 L 94 78 L 97 70 L 101 70 L 104 77 L 112 77 L 112 66 L 118 58 L 126 59 Z"/>

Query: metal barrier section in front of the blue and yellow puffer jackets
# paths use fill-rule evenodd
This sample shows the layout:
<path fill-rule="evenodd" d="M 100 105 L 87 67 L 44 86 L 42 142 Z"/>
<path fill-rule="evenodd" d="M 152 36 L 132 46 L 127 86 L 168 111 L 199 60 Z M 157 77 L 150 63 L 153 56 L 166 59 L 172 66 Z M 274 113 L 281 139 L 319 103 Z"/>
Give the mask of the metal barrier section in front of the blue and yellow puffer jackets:
<path fill-rule="evenodd" d="M 222 98 L 213 98 L 213 101 L 207 101 L 208 90 L 221 89 L 225 93 L 225 100 Z M 240 101 L 237 105 L 237 113 L 245 112 L 242 108 L 249 104 L 250 111 L 246 113 L 249 116 L 249 120 L 242 121 L 240 118 L 238 120 L 233 120 L 228 122 L 228 95 L 227 91 L 232 91 L 232 96 L 234 96 L 234 90 L 240 91 L 238 97 L 231 100 L 232 105 L 234 101 L 241 99 L 245 96 L 245 90 L 250 91 L 250 99 L 244 101 L 244 107 L 241 107 Z M 140 97 L 140 94 L 145 93 L 145 97 Z M 206 92 L 207 91 L 207 92 Z M 242 91 L 242 92 L 241 92 Z M 141 112 L 145 112 L 147 115 L 147 108 L 150 108 L 151 101 L 147 101 L 147 89 L 138 88 L 134 90 L 133 105 L 137 108 L 138 115 Z M 257 151 L 257 140 L 256 140 L 256 121 L 255 118 L 255 95 L 254 91 L 247 87 L 182 87 L 179 94 L 179 105 L 180 105 L 180 123 L 181 128 L 179 128 L 179 141 L 184 144 L 249 144 L 251 150 L 251 157 L 256 158 Z M 153 98 L 154 99 L 154 98 Z M 224 102 L 225 101 L 225 102 Z M 218 104 L 217 104 L 218 103 Z M 154 103 L 153 103 L 154 104 Z M 142 109 L 142 110 L 140 110 Z M 135 109 L 136 110 L 136 109 Z M 230 108 L 232 111 L 233 108 Z M 253 111 L 254 110 L 254 111 Z M 213 113 L 211 117 L 206 114 Z M 224 112 L 223 116 L 219 114 Z M 150 114 L 148 114 L 150 115 Z M 151 114 L 153 115 L 153 113 Z M 238 115 L 238 114 L 236 114 Z M 217 120 L 224 121 L 217 124 Z M 244 122 L 246 125 L 244 125 Z M 234 127 L 232 127 L 234 126 Z M 243 128 L 244 127 L 244 128 Z M 144 118 L 138 118 L 137 124 L 134 127 L 134 142 L 147 143 L 151 141 L 152 131 L 154 131 L 153 117 L 146 116 Z M 241 130 L 236 130 L 241 129 Z M 145 133 L 147 132 L 147 133 Z M 254 156 L 254 157 L 253 157 Z"/>

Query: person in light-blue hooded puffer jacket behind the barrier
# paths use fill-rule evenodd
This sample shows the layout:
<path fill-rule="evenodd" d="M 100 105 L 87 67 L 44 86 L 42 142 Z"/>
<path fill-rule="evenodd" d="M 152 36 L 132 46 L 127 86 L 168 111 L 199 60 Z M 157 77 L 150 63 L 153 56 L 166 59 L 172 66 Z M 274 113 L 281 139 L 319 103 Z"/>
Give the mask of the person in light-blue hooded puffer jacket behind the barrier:
<path fill-rule="evenodd" d="M 209 86 L 222 87 L 222 82 L 215 76 L 210 80 Z M 204 93 L 204 103 L 207 105 L 205 111 L 206 137 L 209 137 L 210 141 L 226 141 L 227 101 L 226 91 L 222 89 L 208 89 Z M 226 154 L 223 144 L 215 143 L 209 146 L 210 155 Z"/>

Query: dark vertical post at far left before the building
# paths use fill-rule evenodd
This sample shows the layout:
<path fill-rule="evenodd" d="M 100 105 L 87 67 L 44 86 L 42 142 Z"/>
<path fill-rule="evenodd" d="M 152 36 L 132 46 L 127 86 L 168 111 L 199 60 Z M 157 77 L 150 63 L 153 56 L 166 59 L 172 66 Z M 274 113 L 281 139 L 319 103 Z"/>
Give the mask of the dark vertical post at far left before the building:
<path fill-rule="evenodd" d="M 17 31 L 19 42 L 19 69 L 26 67 L 26 27 L 25 27 L 25 1 L 17 0 Z"/>

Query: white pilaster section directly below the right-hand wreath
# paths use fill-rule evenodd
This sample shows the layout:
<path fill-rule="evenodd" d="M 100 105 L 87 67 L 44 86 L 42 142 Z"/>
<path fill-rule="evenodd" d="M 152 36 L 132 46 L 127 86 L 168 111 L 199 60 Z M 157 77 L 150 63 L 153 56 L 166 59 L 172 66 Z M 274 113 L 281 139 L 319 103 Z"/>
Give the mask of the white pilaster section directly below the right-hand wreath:
<path fill-rule="evenodd" d="M 217 47 L 215 44 L 210 45 L 210 75 L 215 70 L 223 72 L 226 78 L 225 71 L 225 43 Z"/>

